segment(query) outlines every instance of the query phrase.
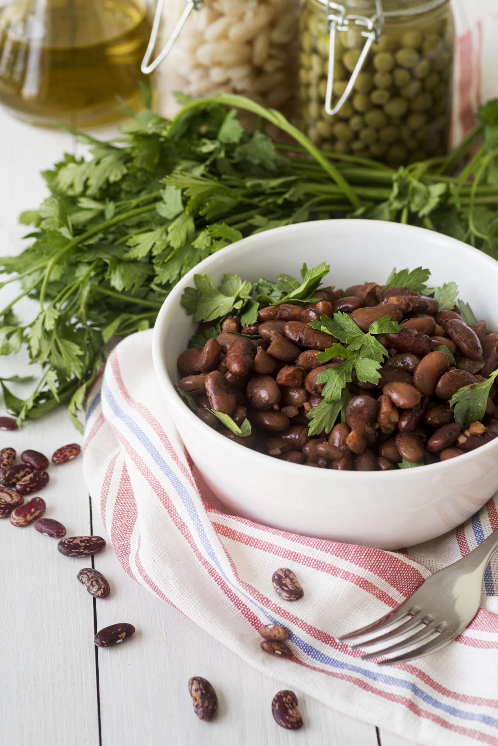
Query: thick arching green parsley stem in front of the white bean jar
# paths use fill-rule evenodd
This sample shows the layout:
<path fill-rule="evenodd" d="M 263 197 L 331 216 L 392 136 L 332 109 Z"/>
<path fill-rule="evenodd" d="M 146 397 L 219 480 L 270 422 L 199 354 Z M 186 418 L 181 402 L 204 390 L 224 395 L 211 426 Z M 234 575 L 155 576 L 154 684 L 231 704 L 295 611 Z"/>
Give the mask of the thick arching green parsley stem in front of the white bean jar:
<path fill-rule="evenodd" d="M 181 110 L 181 112 L 172 119 L 168 133 L 169 137 L 173 137 L 173 135 L 175 134 L 175 126 L 178 125 L 178 122 L 181 122 L 181 119 L 183 119 L 185 114 L 188 113 L 190 110 L 203 109 L 205 107 L 208 107 L 210 104 L 216 103 L 227 104 L 227 106 L 233 106 L 239 109 L 252 111 L 252 113 L 261 116 L 263 119 L 267 119 L 269 122 L 272 122 L 284 132 L 287 132 L 287 134 L 293 137 L 294 140 L 297 140 L 297 142 L 299 142 L 299 144 L 302 145 L 308 151 L 308 153 L 312 155 L 315 160 L 318 161 L 318 163 L 320 163 L 324 171 L 326 171 L 332 178 L 332 180 L 335 181 L 337 186 L 340 187 L 340 189 L 343 191 L 343 194 L 349 199 L 353 207 L 361 207 L 361 201 L 352 191 L 346 179 L 343 178 L 343 176 L 340 174 L 339 171 L 337 171 L 335 166 L 333 166 L 332 163 L 330 163 L 330 161 L 323 156 L 322 152 L 317 148 L 317 146 L 314 145 L 311 140 L 308 140 L 308 137 L 306 137 L 305 134 L 291 125 L 290 122 L 285 119 L 283 114 L 273 109 L 265 109 L 265 107 L 261 106 L 261 104 L 257 104 L 255 101 L 251 101 L 249 98 L 245 98 L 244 96 L 231 93 L 220 93 L 211 98 L 197 98 L 196 101 L 192 101 L 190 104 L 187 104 L 187 106 L 185 106 Z"/>

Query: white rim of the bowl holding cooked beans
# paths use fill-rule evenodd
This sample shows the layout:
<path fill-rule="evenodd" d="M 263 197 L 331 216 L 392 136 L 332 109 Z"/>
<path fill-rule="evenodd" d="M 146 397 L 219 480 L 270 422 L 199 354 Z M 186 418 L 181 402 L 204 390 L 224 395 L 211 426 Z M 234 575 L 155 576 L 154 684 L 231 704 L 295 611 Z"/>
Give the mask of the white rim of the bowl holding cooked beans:
<path fill-rule="evenodd" d="M 246 238 L 240 239 L 240 241 L 237 241 L 235 243 L 232 243 L 228 246 L 225 246 L 225 248 L 220 249 L 220 251 L 215 252 L 214 254 L 211 254 L 209 257 L 207 257 L 205 260 L 202 260 L 202 262 L 199 262 L 199 264 L 196 264 L 193 269 L 190 269 L 189 272 L 187 272 L 186 275 L 184 275 L 183 278 L 178 280 L 178 283 L 173 287 L 171 292 L 169 292 L 168 297 L 164 301 L 164 304 L 162 305 L 161 309 L 159 310 L 158 316 L 155 321 L 154 326 L 154 332 L 152 337 L 152 361 L 155 368 L 155 373 L 158 376 L 159 382 L 161 384 L 161 389 L 164 395 L 167 395 L 170 398 L 169 403 L 172 404 L 172 406 L 177 406 L 178 404 L 181 404 L 181 407 L 183 410 L 185 410 L 185 413 L 187 415 L 187 424 L 190 423 L 190 427 L 193 428 L 199 428 L 199 436 L 206 436 L 213 437 L 215 444 L 217 444 L 218 448 L 227 448 L 228 454 L 233 454 L 234 457 L 239 454 L 240 457 L 243 456 L 243 454 L 246 454 L 247 457 L 252 458 L 255 461 L 255 465 L 261 464 L 261 466 L 265 466 L 265 464 L 268 466 L 268 459 L 270 458 L 267 454 L 261 453 L 260 451 L 255 451 L 252 448 L 243 448 L 239 443 L 236 443 L 232 441 L 229 438 L 226 438 L 225 436 L 222 436 L 221 433 L 217 432 L 217 430 L 214 430 L 212 427 L 209 427 L 205 424 L 205 422 L 202 422 L 199 420 L 199 417 L 197 417 L 192 410 L 190 410 L 190 407 L 182 401 L 182 398 L 180 395 L 178 395 L 178 392 L 175 390 L 175 384 L 172 383 L 171 378 L 169 377 L 168 370 L 166 369 L 166 366 L 163 364 L 162 361 L 162 352 L 161 352 L 161 331 L 164 327 L 164 323 L 166 320 L 166 317 L 169 315 L 169 313 L 174 309 L 174 307 L 180 303 L 181 293 L 183 292 L 184 288 L 188 286 L 189 284 L 193 283 L 193 276 L 202 274 L 203 272 L 206 272 L 211 266 L 215 265 L 217 266 L 220 262 L 226 263 L 229 261 L 229 258 L 231 257 L 231 254 L 238 253 L 241 250 L 247 251 L 248 246 L 250 247 L 253 244 L 257 244 L 261 241 L 267 241 L 270 237 L 270 242 L 272 239 L 273 234 L 276 232 L 278 233 L 314 233 L 315 231 L 321 232 L 323 229 L 331 229 L 334 230 L 334 227 L 346 227 L 351 228 L 352 231 L 359 231 L 361 233 L 361 229 L 365 229 L 367 226 L 368 233 L 379 233 L 382 235 L 382 233 L 393 233 L 396 234 L 402 234 L 406 233 L 406 231 L 411 231 L 412 233 L 418 233 L 422 239 L 427 236 L 431 236 L 432 239 L 434 239 L 435 236 L 438 237 L 438 243 L 441 245 L 446 244 L 447 248 L 452 248 L 453 251 L 462 251 L 464 254 L 470 254 L 470 256 L 473 257 L 473 260 L 481 261 L 484 264 L 488 264 L 489 269 L 491 272 L 496 272 L 498 274 L 498 262 L 497 260 L 494 260 L 492 257 L 488 256 L 488 254 L 484 254 L 482 251 L 479 251 L 479 249 L 473 248 L 470 245 L 465 244 L 462 241 L 459 241 L 458 239 L 452 238 L 451 236 L 446 236 L 444 233 L 435 233 L 435 231 L 429 231 L 427 228 L 419 228 L 415 225 L 402 225 L 400 223 L 395 222 L 387 222 L 387 221 L 377 221 L 377 220 L 350 220 L 350 219 L 328 219 L 328 220 L 317 220 L 314 222 L 304 222 L 304 223 L 295 223 L 293 225 L 284 225 L 279 228 L 271 228 L 269 231 L 261 231 L 261 233 L 254 233 L 252 236 L 246 236 Z M 186 313 L 186 312 L 185 312 Z M 174 404 L 173 404 L 174 403 Z M 475 448 L 473 451 L 468 451 L 467 453 L 462 454 L 458 457 L 458 465 L 464 466 L 464 464 L 470 463 L 473 458 L 476 456 L 476 454 L 479 454 L 480 457 L 485 456 L 485 454 L 488 454 L 488 452 L 493 451 L 494 449 L 498 448 L 498 438 L 491 440 L 488 443 L 485 443 L 485 445 L 479 446 L 479 448 Z M 241 452 L 242 451 L 242 452 Z M 296 464 L 292 463 L 290 461 L 284 461 L 281 459 L 273 459 L 273 468 L 279 469 L 280 471 L 287 471 L 290 469 L 290 473 L 293 473 L 293 471 L 296 470 L 296 468 L 301 469 L 303 464 Z M 441 475 L 445 471 L 448 471 L 449 468 L 452 468 L 454 466 L 457 466 L 454 459 L 448 459 L 446 461 L 439 461 L 438 463 L 433 464 L 425 464 L 423 466 L 423 474 L 435 474 L 436 470 L 441 472 Z M 416 467 L 415 467 L 416 468 Z M 429 470 L 429 473 L 428 473 Z M 398 480 L 404 480 L 411 478 L 411 475 L 413 472 L 411 472 L 411 468 L 402 468 L 402 469 L 387 469 L 386 471 L 337 471 L 335 469 L 316 469 L 314 470 L 314 475 L 320 480 L 327 480 L 327 483 L 329 485 L 331 484 L 332 477 L 329 476 L 329 474 L 335 474 L 335 479 L 337 481 L 342 480 L 351 480 L 351 479 L 358 479 L 358 477 L 361 477 L 361 475 L 368 474 L 369 479 L 374 480 L 382 480 L 382 479 L 398 479 Z M 319 476 L 321 474 L 321 476 Z"/>

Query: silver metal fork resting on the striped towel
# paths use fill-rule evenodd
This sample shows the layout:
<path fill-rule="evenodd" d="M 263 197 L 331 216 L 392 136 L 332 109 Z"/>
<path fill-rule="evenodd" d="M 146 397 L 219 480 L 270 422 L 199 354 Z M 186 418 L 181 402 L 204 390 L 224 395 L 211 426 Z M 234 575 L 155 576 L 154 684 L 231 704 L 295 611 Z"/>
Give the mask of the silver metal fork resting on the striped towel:
<path fill-rule="evenodd" d="M 438 636 L 429 640 L 429 642 L 402 655 L 381 660 L 379 665 L 400 663 L 421 658 L 424 655 L 429 655 L 429 653 L 435 653 L 455 639 L 476 616 L 481 601 L 485 569 L 497 549 L 498 530 L 491 533 L 491 536 L 488 536 L 479 547 L 473 549 L 461 560 L 453 562 L 452 565 L 448 565 L 448 567 L 428 577 L 420 588 L 412 593 L 410 598 L 407 598 L 404 604 L 396 606 L 396 609 L 392 609 L 382 618 L 373 621 L 372 624 L 367 624 L 366 627 L 349 632 L 338 639 L 341 641 L 349 640 L 376 630 L 385 630 L 391 624 L 395 624 L 396 621 L 402 621 L 405 617 L 408 617 L 393 630 L 374 639 L 358 642 L 356 645 L 352 645 L 352 649 L 370 648 L 411 630 L 416 630 L 414 634 L 407 638 L 375 653 L 361 656 L 361 658 L 368 660 L 396 653 L 438 633 Z M 420 627 L 420 629 L 417 630 L 417 627 Z"/>

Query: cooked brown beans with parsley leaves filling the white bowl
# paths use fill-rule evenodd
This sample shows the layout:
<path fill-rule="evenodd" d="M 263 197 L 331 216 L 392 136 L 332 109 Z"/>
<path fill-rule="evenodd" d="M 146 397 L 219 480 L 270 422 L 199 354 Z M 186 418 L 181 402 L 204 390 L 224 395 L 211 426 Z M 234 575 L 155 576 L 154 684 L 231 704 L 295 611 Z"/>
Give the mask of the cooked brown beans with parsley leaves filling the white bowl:
<path fill-rule="evenodd" d="M 383 285 L 255 285 L 195 275 L 200 322 L 178 357 L 178 393 L 223 436 L 314 468 L 387 471 L 461 456 L 498 436 L 498 334 L 418 267 Z"/>

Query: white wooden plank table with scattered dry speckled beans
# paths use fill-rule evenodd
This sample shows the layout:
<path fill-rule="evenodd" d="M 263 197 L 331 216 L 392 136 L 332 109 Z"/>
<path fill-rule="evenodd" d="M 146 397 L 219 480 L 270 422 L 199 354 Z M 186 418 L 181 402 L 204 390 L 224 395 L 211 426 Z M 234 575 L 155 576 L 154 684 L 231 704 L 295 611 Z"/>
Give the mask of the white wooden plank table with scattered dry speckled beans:
<path fill-rule="evenodd" d="M 46 196 L 39 172 L 78 147 L 69 134 L 31 128 L 0 108 L 0 255 L 21 250 L 22 210 Z M 4 298 L 13 292 L 7 286 Z M 26 320 L 34 311 L 24 307 Z M 30 310 L 31 309 L 31 310 Z M 0 376 L 27 374 L 22 354 L 0 358 Z M 28 395 L 30 384 L 22 389 Z M 5 414 L 0 398 L 0 414 Z M 20 454 L 34 448 L 51 456 L 80 436 L 60 408 L 15 433 L 0 432 L 0 448 Z M 46 516 L 65 524 L 68 536 L 106 536 L 99 510 L 81 477 L 81 457 L 49 468 L 43 491 Z M 106 536 L 106 539 L 108 537 Z M 0 521 L 0 744 L 3 746 L 414 746 L 373 725 L 296 692 L 305 727 L 278 728 L 270 703 L 284 682 L 252 669 L 234 653 L 161 603 L 122 570 L 111 545 L 95 566 L 111 583 L 96 601 L 76 580 L 89 559 L 63 557 L 57 540 L 33 527 Z M 117 621 L 137 628 L 118 648 L 93 645 L 98 629 Z M 208 678 L 220 713 L 205 724 L 193 714 L 187 681 Z M 406 734 L 409 736 L 409 734 Z"/>

